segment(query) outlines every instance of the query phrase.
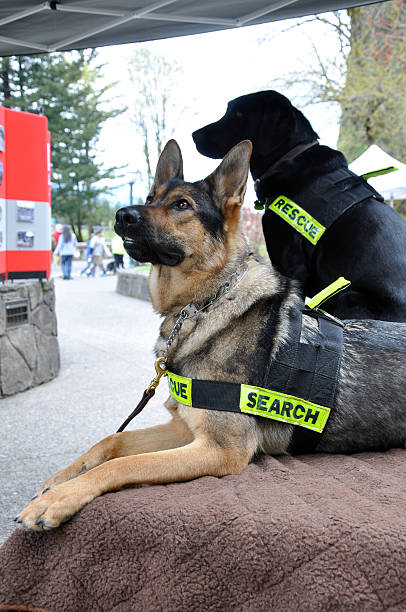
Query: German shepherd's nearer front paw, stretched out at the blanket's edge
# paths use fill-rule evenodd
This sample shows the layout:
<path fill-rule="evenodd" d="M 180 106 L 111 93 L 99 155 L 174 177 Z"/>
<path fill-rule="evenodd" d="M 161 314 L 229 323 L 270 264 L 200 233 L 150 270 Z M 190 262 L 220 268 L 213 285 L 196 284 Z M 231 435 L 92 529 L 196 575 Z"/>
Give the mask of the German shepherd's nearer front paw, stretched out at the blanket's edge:
<path fill-rule="evenodd" d="M 59 527 L 94 499 L 77 480 L 46 489 L 14 519 L 19 527 L 43 531 Z"/>

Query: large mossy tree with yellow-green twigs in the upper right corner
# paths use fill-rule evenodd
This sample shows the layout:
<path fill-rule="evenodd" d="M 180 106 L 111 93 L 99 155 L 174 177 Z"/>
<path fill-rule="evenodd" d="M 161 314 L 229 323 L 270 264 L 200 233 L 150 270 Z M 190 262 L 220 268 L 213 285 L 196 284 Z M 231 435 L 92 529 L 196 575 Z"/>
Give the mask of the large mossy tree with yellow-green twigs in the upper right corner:
<path fill-rule="evenodd" d="M 310 21 L 334 36 L 339 52 L 323 54 L 312 40 L 311 64 L 279 79 L 281 86 L 304 106 L 340 105 L 338 146 L 349 160 L 376 143 L 406 161 L 406 1 L 316 15 L 293 27 Z"/>

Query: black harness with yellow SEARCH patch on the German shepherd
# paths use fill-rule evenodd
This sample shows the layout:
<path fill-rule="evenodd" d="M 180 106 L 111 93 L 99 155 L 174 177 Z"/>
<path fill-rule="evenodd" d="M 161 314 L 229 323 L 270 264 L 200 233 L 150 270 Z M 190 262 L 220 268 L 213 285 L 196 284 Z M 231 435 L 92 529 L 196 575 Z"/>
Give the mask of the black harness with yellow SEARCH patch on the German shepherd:
<path fill-rule="evenodd" d="M 300 341 L 303 315 L 314 317 L 318 322 L 317 338 L 312 344 Z M 334 408 L 343 350 L 343 324 L 323 311 L 310 308 L 294 310 L 290 324 L 289 338 L 268 364 L 265 378 L 261 379 L 266 389 L 249 387 L 259 389 L 259 398 L 266 398 L 268 391 L 273 398 L 281 396 L 282 399 L 277 400 L 278 403 L 276 400 L 273 404 L 268 402 L 267 408 L 263 399 L 262 409 L 259 400 L 257 409 L 250 414 L 292 423 L 296 410 L 296 416 L 300 417 L 296 420 L 297 426 L 287 450 L 291 454 L 300 454 L 314 450 L 325 431 L 324 426 L 321 431 L 308 428 L 315 422 L 317 409 L 319 412 L 325 409 L 328 418 Z M 247 413 L 241 403 L 246 385 L 188 379 L 172 372 L 168 372 L 168 378 L 171 395 L 181 403 L 205 410 Z M 255 396 L 254 392 L 252 396 Z M 306 412 L 309 403 L 314 408 Z"/>

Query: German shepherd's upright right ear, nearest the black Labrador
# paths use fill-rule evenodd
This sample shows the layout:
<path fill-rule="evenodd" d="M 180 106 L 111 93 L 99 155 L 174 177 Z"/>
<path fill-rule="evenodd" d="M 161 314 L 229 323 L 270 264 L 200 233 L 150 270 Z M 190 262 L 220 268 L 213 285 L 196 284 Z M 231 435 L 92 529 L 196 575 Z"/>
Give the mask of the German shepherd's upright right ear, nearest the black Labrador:
<path fill-rule="evenodd" d="M 223 212 L 240 207 L 244 201 L 251 153 L 251 141 L 243 140 L 227 153 L 221 164 L 206 179 L 216 204 Z"/>

